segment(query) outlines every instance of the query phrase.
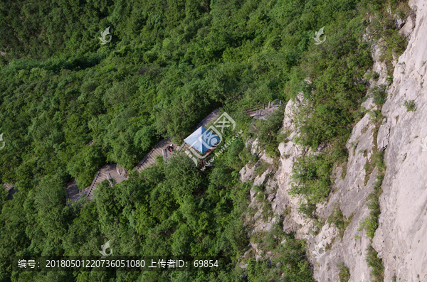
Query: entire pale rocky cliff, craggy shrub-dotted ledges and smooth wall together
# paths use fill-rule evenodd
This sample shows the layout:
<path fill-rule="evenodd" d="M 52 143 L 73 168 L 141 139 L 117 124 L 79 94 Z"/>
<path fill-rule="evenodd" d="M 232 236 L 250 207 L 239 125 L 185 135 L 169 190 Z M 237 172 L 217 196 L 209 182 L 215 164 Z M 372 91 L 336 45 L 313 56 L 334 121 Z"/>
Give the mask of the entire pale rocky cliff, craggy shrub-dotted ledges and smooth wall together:
<path fill-rule="evenodd" d="M 366 169 L 374 151 L 385 151 L 386 163 L 381 186 L 384 192 L 379 198 L 379 228 L 372 241 L 372 246 L 383 259 L 384 281 L 394 281 L 394 276 L 396 281 L 427 281 L 427 124 L 423 125 L 427 116 L 426 98 L 423 97 L 426 92 L 423 89 L 423 76 L 427 67 L 427 1 L 411 0 L 409 6 L 414 13 L 398 24 L 400 32 L 410 39 L 406 51 L 394 65 L 394 82 L 387 90 L 388 98 L 382 107 L 385 119 L 378 123 L 367 113 L 354 126 L 347 141 L 349 159 L 342 168 L 334 169 L 334 187 L 330 198 L 325 204 L 317 206 L 317 215 L 325 220 L 337 207 L 342 210 L 349 222 L 342 236 L 334 224 L 328 222 L 322 225 L 317 235 L 313 235 L 315 219 L 302 217 L 298 212 L 299 199 L 288 193 L 291 188 L 292 163 L 305 153 L 315 153 L 306 152 L 293 141 L 297 136 L 293 112 L 301 101 L 290 101 L 285 109 L 283 127 L 291 134 L 284 143 L 280 143 L 280 166 L 274 173 L 274 180 L 268 178 L 271 171 L 255 178 L 253 170 L 256 165 L 252 169 L 246 167 L 241 170 L 243 181 L 253 179 L 255 185 L 266 183 L 270 191 L 268 199 L 277 216 L 274 220 L 278 216 L 283 219 L 284 231 L 296 232 L 297 238 L 309 242 L 310 260 L 317 281 L 339 281 L 340 269 L 337 264 L 341 262 L 349 267 L 349 281 L 371 281 L 371 269 L 366 262 L 370 239 L 361 228 L 361 222 L 369 217 L 367 196 L 374 189 L 378 175 L 376 169 Z M 373 70 L 380 77 L 376 82 L 371 80 L 372 85 L 386 83 L 386 66 L 380 63 L 379 52 L 379 48 L 374 45 Z M 404 102 L 412 100 L 416 109 L 408 111 Z M 376 109 L 371 99 L 362 106 L 368 111 Z M 421 143 L 425 137 L 426 151 L 422 151 Z M 253 153 L 258 153 L 256 142 L 251 146 Z M 252 205 L 256 205 L 254 195 L 255 190 L 252 190 Z M 253 220 L 255 232 L 268 231 L 271 226 L 268 220 L 263 221 L 258 217 Z M 327 247 L 320 247 L 320 244 Z M 315 251 L 320 251 L 321 255 Z"/>

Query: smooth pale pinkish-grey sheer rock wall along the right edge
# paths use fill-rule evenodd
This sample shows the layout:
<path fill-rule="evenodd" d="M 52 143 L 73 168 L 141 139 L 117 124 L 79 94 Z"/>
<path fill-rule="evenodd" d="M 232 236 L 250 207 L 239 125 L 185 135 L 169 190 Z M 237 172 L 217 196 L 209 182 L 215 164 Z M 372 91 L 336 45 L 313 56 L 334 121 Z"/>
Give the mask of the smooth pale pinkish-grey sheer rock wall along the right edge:
<path fill-rule="evenodd" d="M 394 275 L 397 281 L 427 281 L 427 151 L 421 146 L 427 136 L 427 1 L 409 5 L 416 11 L 415 28 L 396 63 L 378 139 L 387 146 L 387 170 L 374 247 L 384 262 L 385 281 Z M 409 100 L 416 109 L 407 112 L 402 104 Z"/>

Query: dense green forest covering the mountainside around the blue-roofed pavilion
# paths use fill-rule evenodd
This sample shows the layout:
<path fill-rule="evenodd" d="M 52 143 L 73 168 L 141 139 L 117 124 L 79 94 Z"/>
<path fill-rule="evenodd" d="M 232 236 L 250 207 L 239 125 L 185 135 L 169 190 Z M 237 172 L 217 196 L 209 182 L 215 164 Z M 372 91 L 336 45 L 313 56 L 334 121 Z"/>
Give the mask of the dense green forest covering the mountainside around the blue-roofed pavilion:
<path fill-rule="evenodd" d="M 399 0 L 34 0 L 0 2 L 0 281 L 307 282 L 305 242 L 280 224 L 265 236 L 269 259 L 238 261 L 253 162 L 245 143 L 258 136 L 277 158 L 283 107 L 266 121 L 244 109 L 299 93 L 299 143 L 333 150 L 295 166 L 302 211 L 325 199 L 330 171 L 364 110 L 371 43 L 384 36 L 383 60 L 404 40 L 384 16 Z M 371 20 L 368 20 L 371 16 Z M 100 33 L 110 27 L 111 41 Z M 325 27 L 326 40 L 315 44 Z M 108 38 L 108 36 L 107 36 Z M 323 38 L 323 36 L 322 36 Z M 310 77 L 310 83 L 307 82 Z M 392 77 L 389 77 L 392 80 Z M 132 172 L 161 139 L 182 143 L 214 109 L 227 112 L 240 139 L 205 171 L 187 156 Z M 226 131 L 225 141 L 234 132 Z M 88 146 L 88 143 L 93 144 Z M 130 171 L 96 200 L 65 205 L 65 187 L 92 183 L 106 163 Z M 307 171 L 309 173 L 307 173 Z M 283 242 L 285 239 L 285 243 Z M 227 256 L 226 270 L 196 272 L 12 271 L 14 256 L 99 256 L 111 240 L 122 256 Z"/>

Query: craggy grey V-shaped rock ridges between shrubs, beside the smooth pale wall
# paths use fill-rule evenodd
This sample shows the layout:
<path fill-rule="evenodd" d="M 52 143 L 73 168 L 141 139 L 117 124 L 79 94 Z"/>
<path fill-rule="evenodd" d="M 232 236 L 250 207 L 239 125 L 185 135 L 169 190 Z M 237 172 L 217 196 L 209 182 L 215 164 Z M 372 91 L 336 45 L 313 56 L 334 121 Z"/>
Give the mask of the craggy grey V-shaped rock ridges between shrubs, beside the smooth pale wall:
<path fill-rule="evenodd" d="M 364 106 L 374 109 L 371 101 L 364 103 Z M 292 102 L 286 109 L 284 126 L 292 129 Z M 332 212 L 339 207 L 347 218 L 352 218 L 351 223 L 342 235 L 333 224 L 326 222 L 319 234 L 313 236 L 310 229 L 314 229 L 315 222 L 313 219 L 305 219 L 299 214 L 299 203 L 297 198 L 290 197 L 292 177 L 292 161 L 301 156 L 301 151 L 295 143 L 280 144 L 280 153 L 282 157 L 282 168 L 279 175 L 280 185 L 276 195 L 278 207 L 285 208 L 287 203 L 290 205 L 292 212 L 283 222 L 284 228 L 290 231 L 293 229 L 297 232 L 297 237 L 306 239 L 310 243 L 310 259 L 315 269 L 315 279 L 317 281 L 339 281 L 339 268 L 337 264 L 344 262 L 349 266 L 352 278 L 350 281 L 370 281 L 370 269 L 365 262 L 364 252 L 369 244 L 369 239 L 364 232 L 359 231 L 359 222 L 369 215 L 369 209 L 366 205 L 367 195 L 373 190 L 376 180 L 376 170 L 367 175 L 364 166 L 371 159 L 371 152 L 374 147 L 374 124 L 370 121 L 370 115 L 366 114 L 359 123 L 354 126 L 352 136 L 347 142 L 349 149 L 349 160 L 347 162 L 347 173 L 342 179 L 342 169 L 334 170 L 334 187 L 330 199 L 324 205 L 317 207 L 317 213 L 320 218 L 327 219 Z M 292 139 L 294 134 L 291 134 Z M 279 209 L 277 210 L 280 212 Z M 295 227 L 300 227 L 295 229 Z M 320 248 L 327 246 L 327 248 Z M 314 252 L 320 251 L 321 256 L 315 256 Z M 322 251 L 326 251 L 322 255 Z M 329 279 L 329 280 L 328 280 Z"/>

